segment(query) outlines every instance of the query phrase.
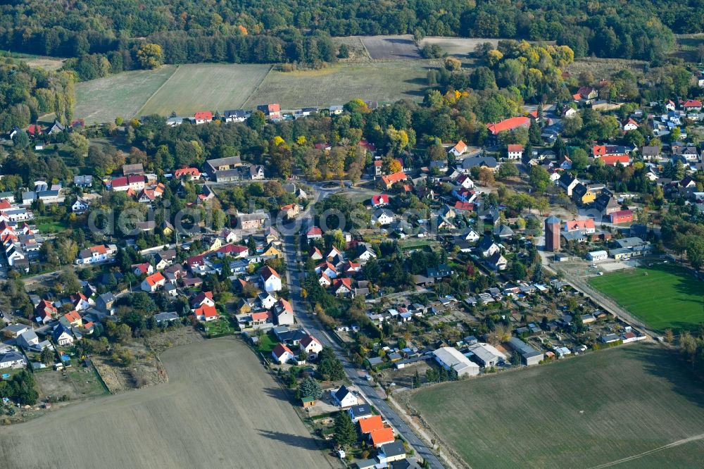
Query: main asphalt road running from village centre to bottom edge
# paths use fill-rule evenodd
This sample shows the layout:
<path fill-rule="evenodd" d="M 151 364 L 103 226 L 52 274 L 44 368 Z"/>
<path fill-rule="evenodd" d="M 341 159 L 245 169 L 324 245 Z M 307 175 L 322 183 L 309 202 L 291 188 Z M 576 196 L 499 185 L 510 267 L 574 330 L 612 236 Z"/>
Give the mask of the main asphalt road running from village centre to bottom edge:
<path fill-rule="evenodd" d="M 318 189 L 318 188 L 316 188 Z M 332 193 L 334 191 L 326 191 L 327 193 Z M 315 194 L 314 201 L 318 201 L 319 193 Z M 312 206 L 313 204 L 311 204 Z M 309 212 L 306 211 L 301 214 L 301 218 L 307 218 Z M 406 424 L 401 417 L 398 416 L 396 411 L 392 409 L 386 401 L 379 397 L 377 394 L 377 389 L 372 387 L 363 376 L 360 375 L 360 370 L 356 368 L 351 362 L 347 361 L 346 356 L 344 356 L 344 350 L 338 346 L 337 342 L 330 339 L 325 330 L 318 325 L 318 322 L 306 312 L 306 306 L 303 304 L 303 298 L 301 297 L 301 280 L 305 272 L 298 267 L 299 252 L 298 246 L 294 242 L 294 236 L 289 235 L 284 237 L 284 258 L 286 261 L 286 281 L 289 285 L 289 292 L 291 296 L 291 306 L 294 308 L 296 313 L 296 318 L 298 322 L 303 325 L 303 327 L 308 330 L 311 334 L 320 340 L 323 346 L 329 346 L 332 348 L 337 356 L 341 359 L 344 364 L 345 373 L 347 374 L 349 380 L 359 389 L 360 393 L 373 404 L 379 413 L 382 414 L 384 420 L 386 420 L 392 427 L 396 429 L 398 434 L 401 434 L 406 442 L 413 446 L 416 454 L 424 458 L 430 463 L 431 468 L 443 468 L 444 466 L 439 461 L 438 458 L 430 451 L 428 446 L 416 434 L 411 430 L 411 428 Z"/>

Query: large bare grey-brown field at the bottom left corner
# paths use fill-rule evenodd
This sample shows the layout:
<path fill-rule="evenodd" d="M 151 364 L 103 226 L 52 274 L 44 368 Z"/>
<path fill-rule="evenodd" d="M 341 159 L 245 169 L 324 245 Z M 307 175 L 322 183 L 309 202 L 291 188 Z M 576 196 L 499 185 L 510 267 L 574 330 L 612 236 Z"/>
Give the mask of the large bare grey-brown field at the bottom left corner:
<path fill-rule="evenodd" d="M 239 340 L 180 346 L 161 358 L 168 384 L 5 428 L 3 467 L 330 467 L 282 390 Z"/>

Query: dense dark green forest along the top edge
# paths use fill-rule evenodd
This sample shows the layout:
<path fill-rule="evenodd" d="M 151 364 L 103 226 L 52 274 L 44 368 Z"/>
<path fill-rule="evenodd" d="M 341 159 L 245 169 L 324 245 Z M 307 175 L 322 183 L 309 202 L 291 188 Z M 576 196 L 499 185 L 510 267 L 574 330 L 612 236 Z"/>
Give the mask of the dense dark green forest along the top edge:
<path fill-rule="evenodd" d="M 577 57 L 654 60 L 672 49 L 673 31 L 701 32 L 703 15 L 701 2 L 675 0 L 18 0 L 0 6 L 0 46 L 113 73 L 149 68 L 145 43 L 161 46 L 165 63 L 314 63 L 334 60 L 330 36 L 379 34 L 554 40 Z"/>

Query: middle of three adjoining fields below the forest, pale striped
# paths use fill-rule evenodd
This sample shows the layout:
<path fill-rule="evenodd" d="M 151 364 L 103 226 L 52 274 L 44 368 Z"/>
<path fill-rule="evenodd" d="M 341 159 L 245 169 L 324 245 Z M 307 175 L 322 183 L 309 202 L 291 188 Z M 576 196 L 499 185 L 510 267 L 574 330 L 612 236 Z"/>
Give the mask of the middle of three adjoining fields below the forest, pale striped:
<path fill-rule="evenodd" d="M 241 108 L 271 65 L 199 63 L 180 65 L 137 115 L 193 115 L 198 111 Z M 270 101 L 262 101 L 268 103 Z M 258 103 L 262 104 L 262 103 Z"/>

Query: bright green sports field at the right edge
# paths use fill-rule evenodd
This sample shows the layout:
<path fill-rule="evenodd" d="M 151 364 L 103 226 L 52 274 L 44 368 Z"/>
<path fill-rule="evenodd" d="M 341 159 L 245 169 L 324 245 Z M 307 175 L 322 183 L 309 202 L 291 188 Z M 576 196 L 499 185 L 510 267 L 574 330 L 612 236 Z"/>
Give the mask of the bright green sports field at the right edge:
<path fill-rule="evenodd" d="M 593 277 L 589 283 L 653 330 L 692 329 L 704 323 L 704 282 L 676 264 L 651 263 Z"/>

